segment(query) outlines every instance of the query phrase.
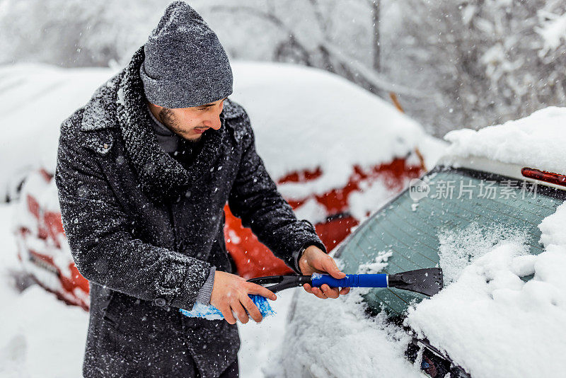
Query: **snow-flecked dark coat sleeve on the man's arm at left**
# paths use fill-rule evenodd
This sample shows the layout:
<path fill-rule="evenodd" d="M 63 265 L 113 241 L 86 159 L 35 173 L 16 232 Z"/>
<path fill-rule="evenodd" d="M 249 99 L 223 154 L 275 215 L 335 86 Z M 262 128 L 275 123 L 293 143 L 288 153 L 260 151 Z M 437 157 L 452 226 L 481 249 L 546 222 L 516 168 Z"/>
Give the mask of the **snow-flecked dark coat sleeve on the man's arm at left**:
<path fill-rule="evenodd" d="M 66 122 L 70 122 L 67 120 Z M 55 183 L 76 268 L 87 280 L 144 300 L 192 309 L 211 265 L 134 239 L 94 152 L 59 138 Z"/>

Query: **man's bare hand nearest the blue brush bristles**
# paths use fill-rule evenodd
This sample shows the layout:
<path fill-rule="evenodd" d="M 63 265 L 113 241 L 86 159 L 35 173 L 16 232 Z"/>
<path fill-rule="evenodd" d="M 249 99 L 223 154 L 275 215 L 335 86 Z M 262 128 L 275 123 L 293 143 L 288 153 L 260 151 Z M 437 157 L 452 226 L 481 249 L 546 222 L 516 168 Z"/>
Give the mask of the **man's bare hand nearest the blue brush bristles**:
<path fill-rule="evenodd" d="M 242 323 L 248 323 L 248 320 L 250 320 L 248 314 L 256 323 L 261 321 L 260 310 L 248 297 L 248 294 L 259 294 L 272 301 L 277 299 L 275 294 L 265 287 L 248 282 L 238 275 L 216 270 L 210 304 L 220 310 L 228 323 L 236 323 L 233 314 L 237 314 Z M 244 308 L 248 310 L 248 314 L 246 314 Z"/>

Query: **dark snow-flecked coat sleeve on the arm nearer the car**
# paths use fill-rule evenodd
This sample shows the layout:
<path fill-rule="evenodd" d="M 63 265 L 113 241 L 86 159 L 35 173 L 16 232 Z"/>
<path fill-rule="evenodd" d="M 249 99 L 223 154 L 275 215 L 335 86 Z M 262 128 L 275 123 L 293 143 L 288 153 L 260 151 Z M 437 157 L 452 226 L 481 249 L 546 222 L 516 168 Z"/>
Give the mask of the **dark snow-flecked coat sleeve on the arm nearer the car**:
<path fill-rule="evenodd" d="M 296 273 L 301 273 L 293 255 L 306 246 L 318 246 L 323 251 L 326 248 L 313 225 L 307 220 L 296 219 L 289 203 L 277 191 L 255 151 L 255 137 L 245 112 L 243 117 L 246 127 L 243 156 L 229 195 L 230 210 L 275 256 L 284 260 Z"/>

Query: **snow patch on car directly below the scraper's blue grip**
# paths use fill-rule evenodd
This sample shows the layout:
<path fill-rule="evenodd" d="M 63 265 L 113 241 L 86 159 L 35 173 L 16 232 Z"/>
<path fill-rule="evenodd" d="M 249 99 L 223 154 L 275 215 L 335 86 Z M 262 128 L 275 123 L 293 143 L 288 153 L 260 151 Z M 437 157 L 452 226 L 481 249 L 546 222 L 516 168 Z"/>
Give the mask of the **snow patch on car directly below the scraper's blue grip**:
<path fill-rule="evenodd" d="M 278 363 L 264 368 L 265 377 L 422 377 L 403 355 L 408 334 L 383 316 L 369 319 L 362 292 L 325 300 L 298 292 Z"/>

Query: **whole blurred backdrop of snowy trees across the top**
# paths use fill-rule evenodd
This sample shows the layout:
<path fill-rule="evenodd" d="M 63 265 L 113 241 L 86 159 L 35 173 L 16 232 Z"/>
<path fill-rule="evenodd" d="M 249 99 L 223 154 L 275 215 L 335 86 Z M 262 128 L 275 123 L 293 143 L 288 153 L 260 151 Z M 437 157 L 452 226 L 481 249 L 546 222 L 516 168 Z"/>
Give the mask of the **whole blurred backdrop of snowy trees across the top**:
<path fill-rule="evenodd" d="M 438 136 L 566 101 L 565 0 L 192 0 L 233 59 L 390 92 Z M 169 0 L 0 0 L 0 64 L 125 64 Z"/>

